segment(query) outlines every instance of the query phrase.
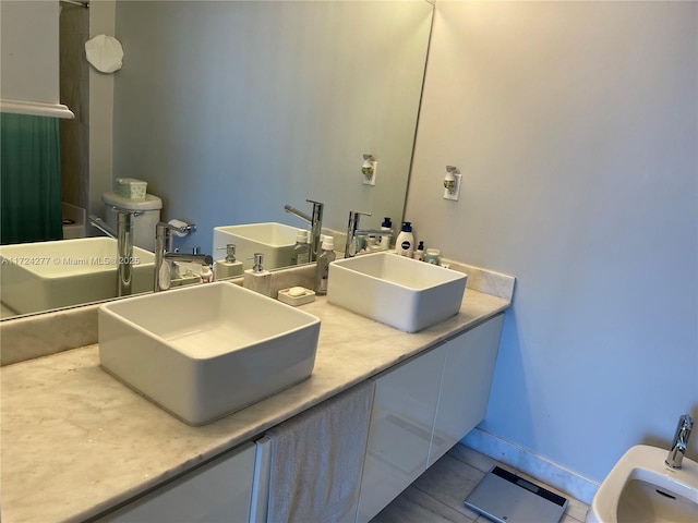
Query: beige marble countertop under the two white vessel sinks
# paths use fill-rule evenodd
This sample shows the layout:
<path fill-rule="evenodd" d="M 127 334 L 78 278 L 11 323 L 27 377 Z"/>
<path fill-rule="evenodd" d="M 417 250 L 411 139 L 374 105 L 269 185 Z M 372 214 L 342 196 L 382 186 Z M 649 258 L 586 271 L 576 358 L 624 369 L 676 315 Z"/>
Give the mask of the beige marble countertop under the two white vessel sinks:
<path fill-rule="evenodd" d="M 2 367 L 2 519 L 83 521 L 195 467 L 269 427 L 506 309 L 466 290 L 456 316 L 406 333 L 318 297 L 322 320 L 305 381 L 203 427 L 191 427 L 99 367 L 98 345 Z"/>

